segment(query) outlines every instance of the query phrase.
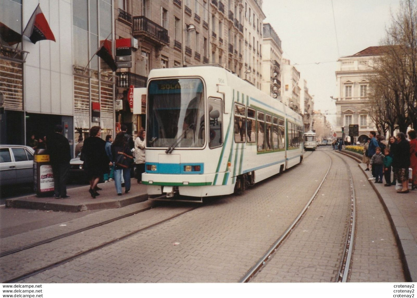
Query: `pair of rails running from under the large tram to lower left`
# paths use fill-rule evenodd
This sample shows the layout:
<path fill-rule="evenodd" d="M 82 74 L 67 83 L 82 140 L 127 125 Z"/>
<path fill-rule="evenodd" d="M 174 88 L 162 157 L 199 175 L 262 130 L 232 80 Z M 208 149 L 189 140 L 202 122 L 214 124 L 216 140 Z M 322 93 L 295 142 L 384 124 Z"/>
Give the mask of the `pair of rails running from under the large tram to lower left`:
<path fill-rule="evenodd" d="M 86 249 L 84 249 L 82 251 L 79 251 L 78 253 L 71 253 L 70 255 L 68 255 L 68 256 L 66 256 L 64 258 L 60 258 L 60 260 L 52 261 L 52 262 L 48 263 L 47 265 L 38 266 L 37 268 L 33 268 L 31 270 L 26 271 L 25 273 L 17 274 L 15 276 L 9 277 L 9 278 L 7 278 L 5 280 L 0 280 L 0 282 L 2 282 L 2 283 L 16 283 L 16 282 L 18 282 L 20 280 L 24 280 L 25 278 L 28 278 L 30 276 L 36 275 L 38 273 L 41 273 L 41 272 L 43 272 L 45 270 L 48 270 L 48 269 L 54 268 L 56 266 L 62 265 L 64 263 L 67 263 L 70 260 L 73 260 L 75 258 L 79 258 L 82 255 L 86 255 L 86 254 L 91 253 L 93 251 L 99 250 L 99 249 L 101 249 L 103 247 L 106 247 L 108 245 L 111 245 L 111 244 L 113 244 L 115 242 L 118 242 L 120 240 L 126 239 L 127 237 L 130 237 L 132 235 L 135 235 L 135 234 L 137 234 L 139 232 L 143 232 L 143 231 L 148 230 L 148 229 L 150 229 L 152 227 L 155 227 L 157 225 L 161 225 L 164 222 L 168 222 L 169 220 L 173 220 L 174 218 L 180 217 L 180 216 L 182 216 L 182 215 L 184 215 L 184 214 L 186 214 L 188 212 L 191 212 L 193 210 L 196 210 L 197 208 L 203 207 L 204 205 L 206 205 L 206 203 L 198 204 L 196 206 L 187 208 L 186 210 L 184 210 L 182 212 L 176 213 L 175 215 L 166 217 L 166 218 L 164 218 L 162 220 L 158 220 L 157 222 L 153 222 L 151 224 L 148 224 L 145 227 L 141 227 L 139 229 L 133 230 L 133 231 L 128 232 L 128 233 L 125 233 L 123 235 L 118 235 L 117 237 L 114 237 L 111 240 L 102 242 L 99 245 L 94 245 L 93 247 L 86 248 Z M 117 222 L 119 220 L 123 220 L 123 219 L 125 219 L 127 217 L 131 217 L 131 216 L 137 215 L 138 213 L 141 213 L 141 212 L 144 212 L 144 211 L 148 211 L 148 210 L 151 210 L 151 209 L 156 209 L 156 208 L 158 208 L 158 206 L 151 206 L 151 207 L 142 208 L 140 210 L 137 210 L 137 211 L 134 211 L 134 212 L 130 212 L 130 213 L 126 214 L 126 215 L 121 215 L 119 217 L 115 217 L 115 218 L 112 218 L 110 220 L 105 220 L 103 222 L 99 222 L 99 223 L 97 223 L 95 225 L 90 225 L 88 227 L 84 227 L 84 228 L 81 228 L 81 229 L 78 229 L 78 230 L 74 230 L 74 231 L 71 231 L 71 232 L 68 232 L 68 233 L 65 233 L 65 234 L 61 234 L 61 235 L 58 235 L 58 236 L 55 236 L 55 237 L 51 237 L 51 238 L 48 238 L 48 239 L 45 239 L 45 240 L 42 240 L 42 241 L 39 241 L 39 242 L 35 242 L 35 243 L 29 244 L 29 245 L 25 245 L 25 246 L 22 246 L 22 247 L 18 247 L 18 248 L 13 249 L 13 250 L 8 250 L 6 252 L 3 252 L 0 258 L 4 258 L 6 256 L 13 257 L 13 255 L 18 254 L 20 252 L 23 252 L 25 250 L 30 250 L 30 249 L 33 249 L 33 248 L 36 248 L 36 247 L 41 247 L 42 245 L 45 245 L 45 244 L 48 244 L 48 243 L 51 243 L 51 242 L 54 242 L 54 241 L 57 241 L 57 240 L 61 240 L 61 239 L 64 239 L 64 238 L 67 238 L 67 237 L 70 237 L 70 236 L 73 236 L 73 235 L 77 235 L 77 234 L 82 233 L 82 232 L 87 231 L 87 230 L 93 230 L 95 228 L 102 227 L 103 225 L 108 225 L 108 224 Z"/>

